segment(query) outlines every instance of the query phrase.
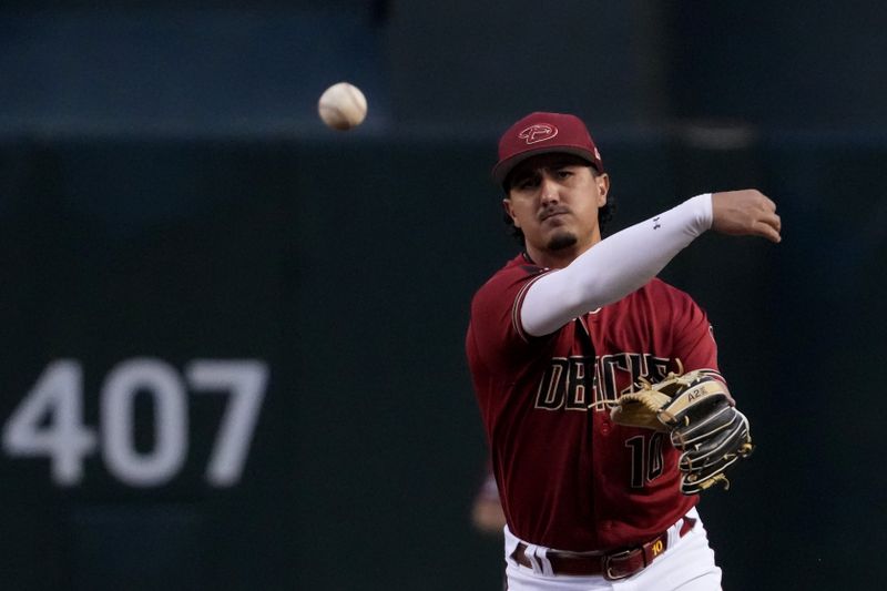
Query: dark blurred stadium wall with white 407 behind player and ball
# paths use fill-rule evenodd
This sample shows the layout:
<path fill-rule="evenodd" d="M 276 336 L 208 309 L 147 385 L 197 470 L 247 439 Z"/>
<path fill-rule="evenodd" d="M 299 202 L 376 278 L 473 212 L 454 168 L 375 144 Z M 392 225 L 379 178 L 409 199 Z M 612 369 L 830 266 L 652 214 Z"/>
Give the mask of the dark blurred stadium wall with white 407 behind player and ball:
<path fill-rule="evenodd" d="M 612 230 L 777 201 L 783 244 L 663 273 L 758 444 L 701 511 L 727 590 L 887 583 L 887 4 L 0 7 L 3 589 L 499 589 L 462 339 L 537 110 L 589 123 Z"/>

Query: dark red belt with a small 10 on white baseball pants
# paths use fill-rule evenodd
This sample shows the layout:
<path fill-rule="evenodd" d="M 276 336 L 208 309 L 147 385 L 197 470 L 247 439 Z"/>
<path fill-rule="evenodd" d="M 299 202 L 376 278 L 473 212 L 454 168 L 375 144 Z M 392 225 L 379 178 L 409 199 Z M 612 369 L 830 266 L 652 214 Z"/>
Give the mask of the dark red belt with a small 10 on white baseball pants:
<path fill-rule="evenodd" d="M 681 523 L 680 536 L 687 534 L 696 520 L 685 517 Z M 609 553 L 574 553 L 547 550 L 546 559 L 551 563 L 553 574 L 568 574 L 573 577 L 592 577 L 602 574 L 609 581 L 628 579 L 650 565 L 669 548 L 669 532 L 660 533 L 652 540 L 625 550 Z M 517 550 L 511 554 L 518 564 L 533 568 L 532 559 L 527 556 L 527 544 L 518 543 Z"/>

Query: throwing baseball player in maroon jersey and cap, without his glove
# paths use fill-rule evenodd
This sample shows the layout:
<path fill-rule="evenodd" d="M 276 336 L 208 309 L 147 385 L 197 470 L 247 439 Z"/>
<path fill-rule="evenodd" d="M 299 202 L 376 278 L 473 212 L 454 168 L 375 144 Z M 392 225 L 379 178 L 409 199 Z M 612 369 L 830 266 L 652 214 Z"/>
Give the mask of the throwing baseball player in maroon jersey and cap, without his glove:
<path fill-rule="evenodd" d="M 639 380 L 717 370 L 705 313 L 655 275 L 707 230 L 781 241 L 755 190 L 703 194 L 606 240 L 584 123 L 531 113 L 492 171 L 523 247 L 476 293 L 466 349 L 506 516 L 511 590 L 721 588 L 667 434 L 615 424 Z"/>

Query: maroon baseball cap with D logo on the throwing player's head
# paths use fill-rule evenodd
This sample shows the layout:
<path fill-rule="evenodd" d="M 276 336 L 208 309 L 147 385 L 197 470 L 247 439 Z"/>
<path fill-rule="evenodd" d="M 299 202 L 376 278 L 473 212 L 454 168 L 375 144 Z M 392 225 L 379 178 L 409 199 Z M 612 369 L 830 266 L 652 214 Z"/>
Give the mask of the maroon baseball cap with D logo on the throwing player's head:
<path fill-rule="evenodd" d="M 514 166 L 528 157 L 551 152 L 583 157 L 603 172 L 601 153 L 581 119 L 537 111 L 511 125 L 499 139 L 499 162 L 492 169 L 492 177 L 502 184 Z"/>

